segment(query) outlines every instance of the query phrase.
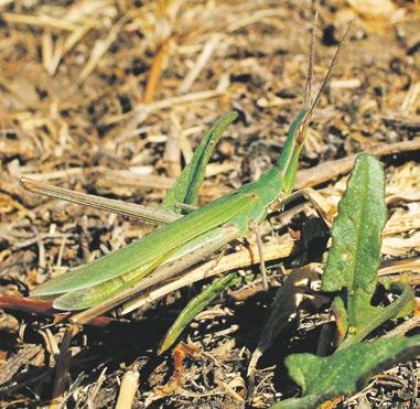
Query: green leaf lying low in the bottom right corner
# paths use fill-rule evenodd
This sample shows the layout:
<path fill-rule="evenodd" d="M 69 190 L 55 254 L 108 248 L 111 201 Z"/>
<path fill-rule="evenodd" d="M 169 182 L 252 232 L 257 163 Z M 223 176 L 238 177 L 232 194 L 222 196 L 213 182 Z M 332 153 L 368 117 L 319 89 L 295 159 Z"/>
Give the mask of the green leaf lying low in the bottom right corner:
<path fill-rule="evenodd" d="M 302 388 L 302 398 L 286 399 L 272 409 L 316 408 L 325 400 L 353 395 L 371 375 L 420 354 L 420 335 L 394 336 L 355 344 L 327 357 L 295 354 L 286 358 L 291 378 Z"/>

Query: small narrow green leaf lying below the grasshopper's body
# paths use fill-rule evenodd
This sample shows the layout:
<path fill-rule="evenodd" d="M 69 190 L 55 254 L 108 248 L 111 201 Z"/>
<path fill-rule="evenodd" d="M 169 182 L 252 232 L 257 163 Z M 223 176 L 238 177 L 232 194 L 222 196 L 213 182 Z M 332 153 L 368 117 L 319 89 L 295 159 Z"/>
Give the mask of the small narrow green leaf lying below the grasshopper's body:
<path fill-rule="evenodd" d="M 177 315 L 175 322 L 169 329 L 161 347 L 159 348 L 159 355 L 169 349 L 176 338 L 184 331 L 195 316 L 202 312 L 220 292 L 226 290 L 230 286 L 239 283 L 241 277 L 238 272 L 231 272 L 213 281 L 205 290 L 203 290 L 197 297 L 192 299 L 189 304 Z"/>

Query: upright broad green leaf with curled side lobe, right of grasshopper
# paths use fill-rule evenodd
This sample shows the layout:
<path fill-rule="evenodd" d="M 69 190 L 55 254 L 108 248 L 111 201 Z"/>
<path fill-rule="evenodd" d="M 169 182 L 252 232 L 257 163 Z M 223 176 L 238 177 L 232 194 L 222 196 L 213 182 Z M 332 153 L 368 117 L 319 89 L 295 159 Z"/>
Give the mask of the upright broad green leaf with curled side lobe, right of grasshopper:
<path fill-rule="evenodd" d="M 338 204 L 338 215 L 332 228 L 333 243 L 329 252 L 322 290 L 341 291 L 335 302 L 338 326 L 344 341 L 341 347 L 360 342 L 399 310 L 413 305 L 408 286 L 401 295 L 383 308 L 370 304 L 377 286 L 380 261 L 381 230 L 387 220 L 385 175 L 380 162 L 360 154 Z"/>

